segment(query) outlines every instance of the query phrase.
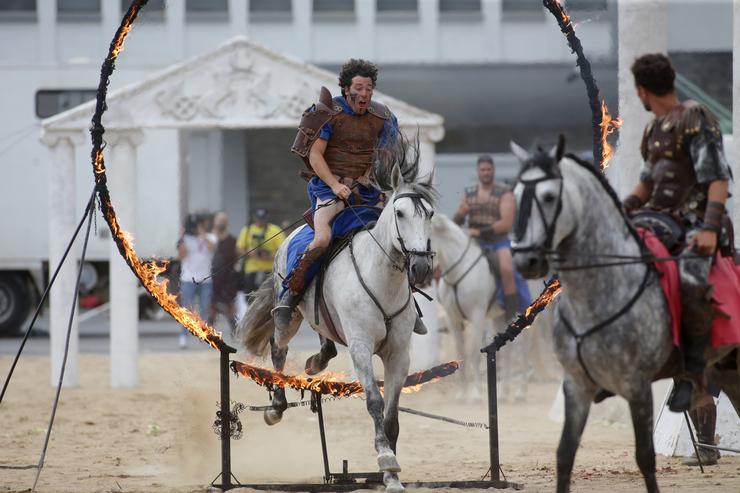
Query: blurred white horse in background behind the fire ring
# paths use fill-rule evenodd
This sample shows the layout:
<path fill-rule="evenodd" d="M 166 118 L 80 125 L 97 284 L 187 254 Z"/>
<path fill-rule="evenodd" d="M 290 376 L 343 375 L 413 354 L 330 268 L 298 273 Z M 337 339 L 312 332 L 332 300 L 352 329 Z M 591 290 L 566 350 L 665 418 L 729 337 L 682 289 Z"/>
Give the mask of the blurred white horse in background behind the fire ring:
<path fill-rule="evenodd" d="M 469 400 L 480 400 L 480 348 L 493 319 L 503 315 L 493 302 L 496 280 L 478 243 L 443 214 L 432 220 L 432 245 L 442 268 L 437 299 L 445 309 L 458 354 L 463 357 L 464 393 Z M 465 322 L 468 330 L 464 330 Z"/>

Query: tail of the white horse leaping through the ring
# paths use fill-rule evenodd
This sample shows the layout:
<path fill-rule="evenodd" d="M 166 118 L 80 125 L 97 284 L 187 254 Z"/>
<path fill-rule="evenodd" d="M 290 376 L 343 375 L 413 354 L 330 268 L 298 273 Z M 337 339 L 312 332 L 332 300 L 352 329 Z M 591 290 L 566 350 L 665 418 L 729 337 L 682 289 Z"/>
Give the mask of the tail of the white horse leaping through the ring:
<path fill-rule="evenodd" d="M 236 326 L 236 339 L 252 354 L 264 356 L 275 331 L 272 308 L 275 305 L 273 274 L 267 276 L 257 291 L 249 293 L 249 309 Z"/>

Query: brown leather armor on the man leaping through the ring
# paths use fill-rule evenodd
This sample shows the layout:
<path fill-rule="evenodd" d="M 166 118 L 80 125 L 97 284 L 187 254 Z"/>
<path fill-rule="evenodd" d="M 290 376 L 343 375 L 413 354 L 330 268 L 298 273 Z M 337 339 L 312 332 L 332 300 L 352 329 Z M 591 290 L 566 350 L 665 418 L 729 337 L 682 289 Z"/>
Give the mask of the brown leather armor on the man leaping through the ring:
<path fill-rule="evenodd" d="M 356 179 L 372 166 L 380 133 L 385 121 L 391 117 L 390 110 L 375 101 L 370 102 L 368 111 L 363 115 L 345 113 L 331 99 L 329 91 L 322 87 L 319 102 L 303 113 L 291 150 L 308 167 L 308 173 L 304 175 L 314 176 L 309 152 L 319 137 L 321 127 L 331 123 L 332 134 L 324 152 L 326 164 L 334 175 Z"/>

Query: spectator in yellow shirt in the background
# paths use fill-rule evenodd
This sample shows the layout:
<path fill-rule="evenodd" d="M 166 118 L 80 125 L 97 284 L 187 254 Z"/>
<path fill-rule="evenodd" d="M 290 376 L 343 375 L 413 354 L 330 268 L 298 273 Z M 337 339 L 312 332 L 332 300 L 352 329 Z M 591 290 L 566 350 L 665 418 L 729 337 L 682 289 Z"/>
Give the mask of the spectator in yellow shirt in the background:
<path fill-rule="evenodd" d="M 242 228 L 236 242 L 239 255 L 247 255 L 242 288 L 245 293 L 256 290 L 272 272 L 275 253 L 284 240 L 280 227 L 267 221 L 267 211 L 257 209 L 254 221 Z"/>

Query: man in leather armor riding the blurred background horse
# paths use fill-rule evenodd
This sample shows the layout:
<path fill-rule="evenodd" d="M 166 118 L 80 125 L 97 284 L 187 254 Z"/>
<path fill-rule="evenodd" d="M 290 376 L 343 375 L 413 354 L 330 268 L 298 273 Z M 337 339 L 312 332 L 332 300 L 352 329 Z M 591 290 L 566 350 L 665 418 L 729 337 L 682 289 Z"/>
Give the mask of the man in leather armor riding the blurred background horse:
<path fill-rule="evenodd" d="M 458 225 L 468 221 L 468 234 L 476 238 L 504 291 L 504 312 L 510 321 L 520 305 L 508 233 L 514 224 L 516 204 L 511 189 L 496 182 L 493 158 L 478 158 L 478 184 L 467 187 L 453 217 Z M 526 295 L 529 297 L 529 294 Z"/>

